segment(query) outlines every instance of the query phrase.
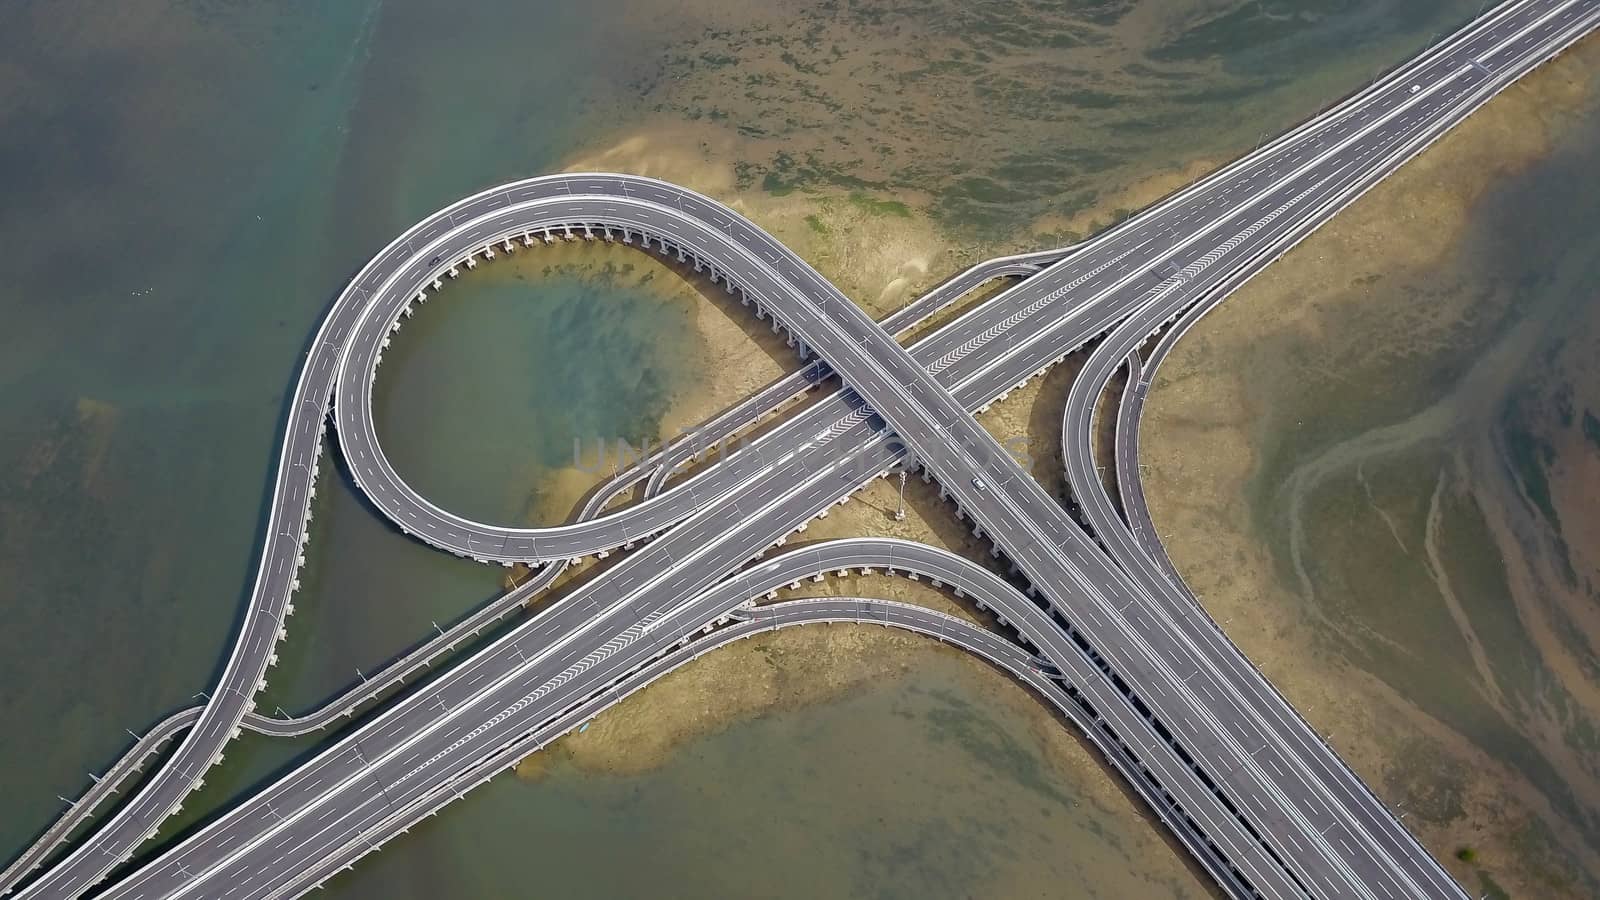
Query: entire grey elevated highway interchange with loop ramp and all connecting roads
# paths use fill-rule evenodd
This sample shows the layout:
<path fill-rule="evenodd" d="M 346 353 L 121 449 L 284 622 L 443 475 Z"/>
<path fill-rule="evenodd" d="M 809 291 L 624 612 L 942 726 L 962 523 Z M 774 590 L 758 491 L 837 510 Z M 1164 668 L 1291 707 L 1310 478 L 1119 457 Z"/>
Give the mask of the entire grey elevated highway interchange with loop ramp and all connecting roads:
<path fill-rule="evenodd" d="M 870 620 L 950 641 L 1038 690 L 1229 895 L 1464 897 L 1176 578 L 1138 490 L 1138 412 L 1154 368 L 1195 319 L 1597 22 L 1600 0 L 1502 3 L 1093 240 L 974 266 L 882 323 L 736 211 L 667 183 L 544 176 L 440 210 L 352 279 L 302 360 L 250 609 L 208 701 L 163 722 L 102 780 L 120 781 L 182 732 L 104 822 L 53 858 L 109 793 L 91 788 L 0 874 L 0 889 L 19 897 L 293 897 L 698 653 L 763 628 Z M 464 267 L 566 237 L 675 255 L 822 362 L 707 423 L 699 444 L 674 444 L 619 472 L 568 525 L 515 528 L 440 509 L 405 484 L 378 440 L 371 392 L 389 336 Z M 909 348 L 896 340 L 1000 275 L 1021 280 Z M 1141 359 L 1139 348 L 1158 333 L 1155 352 Z M 1062 415 L 1080 520 L 973 413 L 1096 340 Z M 1115 421 L 1122 509 L 1101 484 L 1091 442 L 1096 405 L 1118 368 L 1130 372 Z M 819 396 L 778 415 L 806 391 Z M 352 479 L 398 528 L 482 562 L 546 567 L 402 657 L 378 684 L 274 722 L 254 713 L 251 698 L 286 634 L 330 420 Z M 707 439 L 755 421 L 766 423 L 757 437 L 680 472 Z M 749 565 L 899 468 L 938 480 L 1014 567 L 1016 585 L 936 548 L 874 538 Z M 645 500 L 605 509 L 638 484 Z M 326 727 L 517 609 L 568 560 L 618 551 L 626 552 L 592 580 L 389 700 L 304 765 L 131 871 L 117 868 L 242 727 Z M 803 578 L 851 569 L 938 580 L 994 610 L 1019 644 L 866 599 L 750 605 Z"/>

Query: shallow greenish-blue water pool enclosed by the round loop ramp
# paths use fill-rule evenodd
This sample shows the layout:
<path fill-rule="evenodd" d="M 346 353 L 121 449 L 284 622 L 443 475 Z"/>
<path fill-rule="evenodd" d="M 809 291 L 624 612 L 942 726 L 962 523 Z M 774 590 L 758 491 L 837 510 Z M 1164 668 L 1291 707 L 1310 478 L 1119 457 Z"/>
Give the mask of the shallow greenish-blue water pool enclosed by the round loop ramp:
<path fill-rule="evenodd" d="M 659 269 L 638 256 L 546 275 L 546 261 L 573 259 L 570 250 L 582 258 L 534 248 L 480 267 L 406 320 L 384 354 L 379 437 L 434 503 L 533 522 L 552 469 L 600 466 L 600 442 L 656 440 L 674 389 L 693 378 L 690 303 L 638 283 Z"/>

